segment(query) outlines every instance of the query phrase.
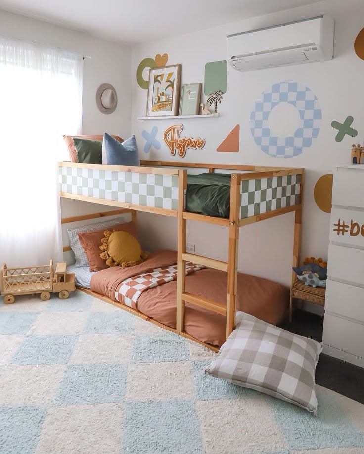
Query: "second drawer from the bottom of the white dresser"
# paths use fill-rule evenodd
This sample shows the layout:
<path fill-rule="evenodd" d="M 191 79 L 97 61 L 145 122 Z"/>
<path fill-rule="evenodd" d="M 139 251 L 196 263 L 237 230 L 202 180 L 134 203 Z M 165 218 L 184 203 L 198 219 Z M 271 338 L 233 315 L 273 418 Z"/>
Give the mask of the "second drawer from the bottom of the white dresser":
<path fill-rule="evenodd" d="M 328 280 L 325 310 L 364 323 L 364 288 Z"/>

